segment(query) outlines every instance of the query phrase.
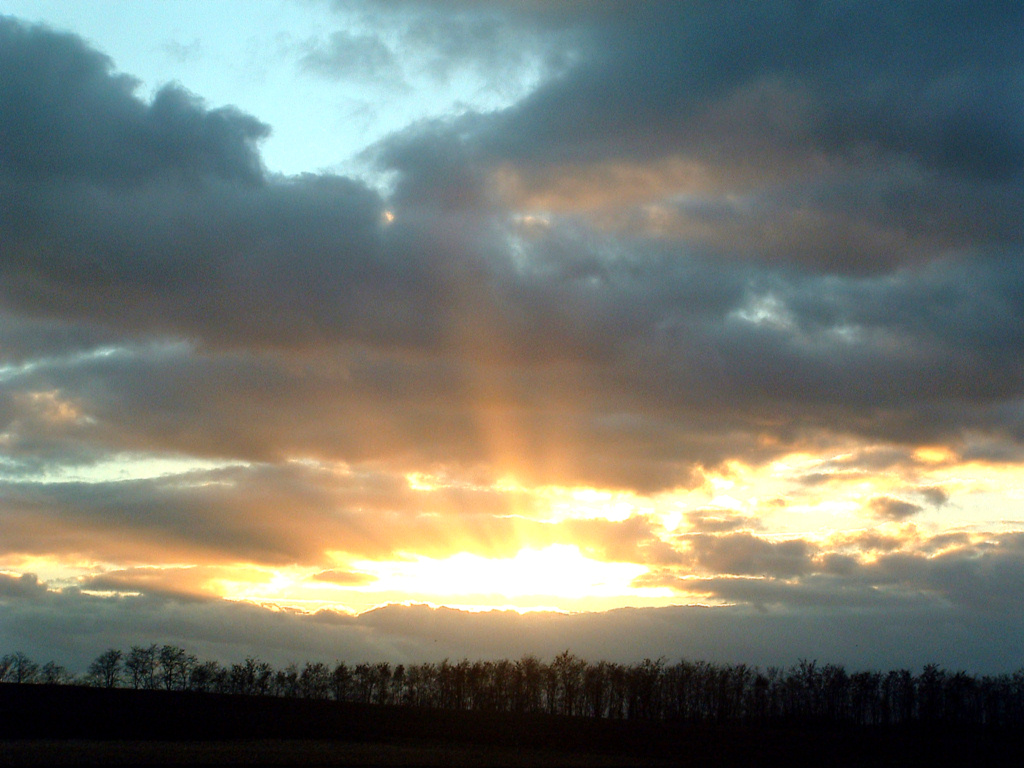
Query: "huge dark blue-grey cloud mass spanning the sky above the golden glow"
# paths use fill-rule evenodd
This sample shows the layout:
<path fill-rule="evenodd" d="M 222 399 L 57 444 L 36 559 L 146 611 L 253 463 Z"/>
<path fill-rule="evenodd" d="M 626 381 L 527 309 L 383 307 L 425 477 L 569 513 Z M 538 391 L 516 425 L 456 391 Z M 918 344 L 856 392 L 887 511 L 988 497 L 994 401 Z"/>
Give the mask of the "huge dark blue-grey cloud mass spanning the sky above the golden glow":
<path fill-rule="evenodd" d="M 263 129 L 251 118 L 180 89 L 144 102 L 76 38 L 5 22 L 5 60 L 60 60 L 77 73 L 14 69 L 5 91 L 8 312 L 100 337 L 117 329 L 195 339 L 214 354 L 273 348 L 322 360 L 327 352 L 338 364 L 296 367 L 240 351 L 186 364 L 150 393 L 153 372 L 126 359 L 124 384 L 76 391 L 84 384 L 55 374 L 53 387 L 109 408 L 104 429 L 150 406 L 139 409 L 139 443 L 176 435 L 177 450 L 200 453 L 377 452 L 411 462 L 429 454 L 466 467 L 493 459 L 487 428 L 471 414 L 485 402 L 516 435 L 506 453 L 525 477 L 644 489 L 689 484 L 697 465 L 756 462 L 828 433 L 908 442 L 957 440 L 969 427 L 1001 440 L 1024 434 L 1015 406 L 1024 278 L 1019 217 L 1008 213 L 1021 193 L 1016 134 L 970 101 L 984 96 L 1013 125 L 1012 92 L 997 75 L 1020 67 L 1012 46 L 964 43 L 998 42 L 1002 28 L 970 10 L 953 34 L 945 6 L 916 19 L 899 5 L 855 45 L 866 16 L 824 4 L 800 12 L 807 25 L 787 5 L 472 7 L 459 12 L 511 13 L 520 27 L 571 35 L 580 55 L 504 112 L 424 123 L 381 142 L 372 155 L 396 172 L 388 200 L 350 179 L 268 177 L 255 150 Z M 444 18 L 429 4 L 416 12 Z M 908 51 L 924 43 L 929 54 L 918 60 Z M 861 70 L 862 81 L 834 87 Z M 978 86 L 963 109 L 956 78 Z M 896 109 L 908 93 L 921 94 L 912 114 Z M 751 119 L 755 108 L 777 120 Z M 934 121 L 922 117 L 928 110 Z M 89 111 L 101 115 L 76 118 Z M 30 135 L 25 126 L 37 119 L 69 136 L 49 164 L 32 159 L 59 136 Z M 970 155 L 986 141 L 1001 141 L 991 152 L 1008 159 L 1007 173 Z M 118 146 L 126 148 L 108 162 Z M 963 162 L 956 147 L 968 153 Z M 717 180 L 673 187 L 658 166 L 670 157 Z M 621 229 L 586 211 L 530 223 L 509 216 L 517 201 L 495 181 L 503 168 L 543 185 L 549 170 L 623 162 L 641 181 L 650 175 L 656 191 L 627 209 L 658 203 L 670 219 L 702 222 L 707 237 Z M 752 164 L 779 168 L 741 180 L 735 167 Z M 732 187 L 738 202 L 727 201 Z M 680 193 L 696 213 L 680 212 L 691 206 Z M 613 202 L 613 185 L 608 195 Z M 395 219 L 384 225 L 388 206 Z M 733 219 L 748 233 L 719 237 Z M 784 237 L 769 243 L 762 225 Z M 882 260 L 863 268 L 866 251 L 849 243 L 860 236 L 842 232 L 876 230 L 904 232 L 912 253 L 882 237 L 871 246 Z M 357 359 L 356 344 L 374 351 Z M 208 381 L 210 366 L 219 373 Z M 330 402 L 332 388 L 341 402 Z M 104 402 L 119 392 L 122 402 Z M 404 408 L 395 412 L 397 398 Z M 326 411 L 317 419 L 304 402 Z M 564 455 L 557 472 L 545 473 L 555 466 L 547 458 L 529 459 L 545 452 Z"/>

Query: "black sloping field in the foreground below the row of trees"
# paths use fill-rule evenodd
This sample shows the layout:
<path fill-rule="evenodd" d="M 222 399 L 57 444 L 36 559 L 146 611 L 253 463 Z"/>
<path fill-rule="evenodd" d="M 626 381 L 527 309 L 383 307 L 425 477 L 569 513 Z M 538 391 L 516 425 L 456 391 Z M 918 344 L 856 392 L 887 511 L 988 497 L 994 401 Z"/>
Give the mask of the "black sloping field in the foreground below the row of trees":
<path fill-rule="evenodd" d="M 0 765 L 1001 766 L 980 728 L 695 726 L 345 702 L 0 685 Z"/>

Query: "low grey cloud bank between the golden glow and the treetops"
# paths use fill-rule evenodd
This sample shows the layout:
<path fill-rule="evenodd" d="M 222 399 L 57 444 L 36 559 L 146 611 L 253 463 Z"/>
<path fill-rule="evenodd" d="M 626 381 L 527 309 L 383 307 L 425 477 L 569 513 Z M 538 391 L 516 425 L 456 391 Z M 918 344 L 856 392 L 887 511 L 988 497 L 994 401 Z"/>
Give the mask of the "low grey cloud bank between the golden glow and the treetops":
<path fill-rule="evenodd" d="M 101 651 L 133 644 L 181 645 L 221 663 L 259 655 L 291 662 L 440 662 L 443 658 L 553 658 L 569 648 L 591 660 L 636 663 L 665 656 L 786 667 L 800 658 L 857 669 L 939 664 L 1001 673 L 1017 664 L 1017 612 L 979 613 L 929 600 L 859 610 L 744 607 L 624 608 L 604 613 L 467 612 L 391 605 L 350 616 L 303 614 L 218 600 L 105 598 L 76 590 L 5 598 L 12 621 L 0 646 L 31 648 L 81 672 Z"/>

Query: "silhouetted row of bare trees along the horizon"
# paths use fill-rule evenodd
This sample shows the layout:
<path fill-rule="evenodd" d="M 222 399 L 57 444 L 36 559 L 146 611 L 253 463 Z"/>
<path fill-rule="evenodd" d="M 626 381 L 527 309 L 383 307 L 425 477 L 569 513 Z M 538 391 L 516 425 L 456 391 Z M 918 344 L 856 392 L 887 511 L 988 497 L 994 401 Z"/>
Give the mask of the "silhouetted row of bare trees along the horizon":
<path fill-rule="evenodd" d="M 367 705 L 623 720 L 740 724 L 1024 726 L 1024 669 L 981 677 L 936 665 L 847 672 L 801 660 L 761 669 L 709 662 L 590 663 L 570 653 L 551 662 L 462 659 L 439 664 L 321 662 L 274 669 L 256 657 L 221 665 L 174 645 L 100 653 L 84 676 L 24 653 L 0 657 L 0 682 L 93 685 Z"/>

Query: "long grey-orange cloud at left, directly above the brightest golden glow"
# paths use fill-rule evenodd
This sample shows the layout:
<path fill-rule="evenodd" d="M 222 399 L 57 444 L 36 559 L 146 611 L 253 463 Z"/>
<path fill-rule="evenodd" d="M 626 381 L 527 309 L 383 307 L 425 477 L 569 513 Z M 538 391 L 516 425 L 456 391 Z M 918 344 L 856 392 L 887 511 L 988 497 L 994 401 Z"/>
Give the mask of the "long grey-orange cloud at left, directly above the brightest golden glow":
<path fill-rule="evenodd" d="M 388 476 L 267 465 L 128 480 L 10 481 L 0 486 L 2 547 L 103 562 L 324 566 L 329 550 L 380 558 L 400 551 L 444 556 L 487 542 L 496 553 L 512 554 L 522 546 L 507 518 L 457 521 L 443 501 L 422 495 L 420 503 L 417 496 Z"/>

